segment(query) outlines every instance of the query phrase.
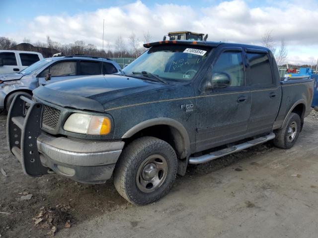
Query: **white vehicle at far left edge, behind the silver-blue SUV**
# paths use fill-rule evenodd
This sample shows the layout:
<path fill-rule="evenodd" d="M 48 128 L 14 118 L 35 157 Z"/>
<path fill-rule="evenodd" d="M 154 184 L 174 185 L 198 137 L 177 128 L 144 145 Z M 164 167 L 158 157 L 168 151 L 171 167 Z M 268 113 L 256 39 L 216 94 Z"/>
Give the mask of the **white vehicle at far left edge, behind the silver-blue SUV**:
<path fill-rule="evenodd" d="M 41 53 L 0 50 L 0 74 L 19 72 L 39 60 Z"/>

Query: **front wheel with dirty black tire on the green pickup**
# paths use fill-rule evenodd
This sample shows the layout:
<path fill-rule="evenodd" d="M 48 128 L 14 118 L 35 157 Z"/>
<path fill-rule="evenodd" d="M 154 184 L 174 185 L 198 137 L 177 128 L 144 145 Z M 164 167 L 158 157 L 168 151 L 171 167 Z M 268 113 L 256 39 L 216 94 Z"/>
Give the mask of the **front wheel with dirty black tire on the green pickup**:
<path fill-rule="evenodd" d="M 160 185 L 154 185 L 149 188 L 143 187 L 141 182 L 144 179 L 144 171 L 147 166 L 151 165 L 150 159 L 159 157 L 158 161 L 164 161 L 166 171 L 156 168 L 154 172 L 157 173 L 159 179 L 161 173 Z M 157 160 L 157 159 L 155 159 Z M 146 163 L 146 162 L 148 163 Z M 146 164 L 145 164 L 146 163 Z M 155 162 L 157 163 L 157 162 Z M 127 201 L 136 205 L 145 205 L 152 203 L 162 196 L 164 196 L 171 188 L 177 173 L 177 157 L 173 148 L 163 140 L 155 137 L 141 137 L 131 142 L 122 152 L 114 171 L 114 184 L 118 193 L 123 196 Z M 148 172 L 148 171 L 146 171 Z M 138 176 L 137 176 L 138 175 Z M 154 178 L 155 179 L 155 178 Z M 147 183 L 148 181 L 146 181 Z M 158 186 L 158 187 L 157 187 Z M 145 191 L 142 191 L 144 189 Z M 149 189 L 149 190 L 147 190 Z M 151 191 L 151 189 L 155 189 Z"/>

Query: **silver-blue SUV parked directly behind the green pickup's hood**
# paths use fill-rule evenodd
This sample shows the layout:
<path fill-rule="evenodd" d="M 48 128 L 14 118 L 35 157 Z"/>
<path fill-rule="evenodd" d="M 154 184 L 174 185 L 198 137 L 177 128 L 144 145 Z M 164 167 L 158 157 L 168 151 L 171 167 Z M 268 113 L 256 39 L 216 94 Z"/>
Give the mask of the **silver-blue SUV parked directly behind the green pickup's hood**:
<path fill-rule="evenodd" d="M 119 70 L 115 61 L 98 57 L 65 56 L 37 61 L 19 73 L 0 75 L 0 110 L 8 111 L 14 96 L 19 93 L 31 98 L 32 90 L 39 85 Z"/>

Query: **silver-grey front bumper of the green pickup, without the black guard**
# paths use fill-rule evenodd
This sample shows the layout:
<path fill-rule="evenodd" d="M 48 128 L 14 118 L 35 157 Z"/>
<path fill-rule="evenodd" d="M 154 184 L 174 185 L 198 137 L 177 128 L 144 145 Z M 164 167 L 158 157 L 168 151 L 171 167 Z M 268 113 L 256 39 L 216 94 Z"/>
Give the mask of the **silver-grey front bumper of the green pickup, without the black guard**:
<path fill-rule="evenodd" d="M 37 148 L 42 165 L 82 183 L 110 179 L 124 142 L 76 140 L 41 133 Z"/>

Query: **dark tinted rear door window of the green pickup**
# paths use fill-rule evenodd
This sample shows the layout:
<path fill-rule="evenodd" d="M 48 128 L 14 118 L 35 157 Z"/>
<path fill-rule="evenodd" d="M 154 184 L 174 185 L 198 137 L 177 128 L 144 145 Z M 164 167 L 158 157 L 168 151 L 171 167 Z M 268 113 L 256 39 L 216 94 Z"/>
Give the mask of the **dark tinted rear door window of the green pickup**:
<path fill-rule="evenodd" d="M 272 84 L 272 70 L 266 54 L 247 53 L 250 77 L 253 85 Z"/>

